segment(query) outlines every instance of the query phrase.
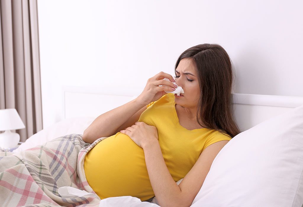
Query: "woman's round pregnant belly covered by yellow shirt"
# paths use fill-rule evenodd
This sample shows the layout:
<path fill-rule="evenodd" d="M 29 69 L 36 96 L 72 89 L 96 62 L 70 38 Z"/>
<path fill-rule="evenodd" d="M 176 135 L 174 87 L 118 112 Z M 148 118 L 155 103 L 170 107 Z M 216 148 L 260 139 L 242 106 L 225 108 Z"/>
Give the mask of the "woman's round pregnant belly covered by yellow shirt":
<path fill-rule="evenodd" d="M 130 195 L 146 201 L 155 196 L 144 151 L 126 134 L 118 132 L 99 142 L 85 156 L 84 170 L 100 199 Z"/>

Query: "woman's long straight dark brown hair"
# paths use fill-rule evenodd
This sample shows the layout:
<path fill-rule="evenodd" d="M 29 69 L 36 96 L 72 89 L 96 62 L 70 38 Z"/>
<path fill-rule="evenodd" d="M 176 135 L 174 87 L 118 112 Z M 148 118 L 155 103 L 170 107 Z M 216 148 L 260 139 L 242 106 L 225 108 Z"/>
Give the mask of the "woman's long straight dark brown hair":
<path fill-rule="evenodd" d="M 215 129 L 234 137 L 240 130 L 232 117 L 233 64 L 219 44 L 198 44 L 185 50 L 175 64 L 191 58 L 197 68 L 200 86 L 197 121 L 201 127 Z M 206 126 L 202 126 L 198 117 Z"/>

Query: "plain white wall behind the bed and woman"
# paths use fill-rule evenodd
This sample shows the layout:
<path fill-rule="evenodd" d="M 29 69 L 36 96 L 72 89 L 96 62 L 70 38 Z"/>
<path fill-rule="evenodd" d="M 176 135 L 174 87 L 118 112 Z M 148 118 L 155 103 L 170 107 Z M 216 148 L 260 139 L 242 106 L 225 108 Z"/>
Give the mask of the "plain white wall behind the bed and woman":
<path fill-rule="evenodd" d="M 62 86 L 129 87 L 174 75 L 187 48 L 218 43 L 233 93 L 303 96 L 302 1 L 38 1 L 43 127 L 62 119 Z M 77 101 L 77 100 L 75 100 Z"/>

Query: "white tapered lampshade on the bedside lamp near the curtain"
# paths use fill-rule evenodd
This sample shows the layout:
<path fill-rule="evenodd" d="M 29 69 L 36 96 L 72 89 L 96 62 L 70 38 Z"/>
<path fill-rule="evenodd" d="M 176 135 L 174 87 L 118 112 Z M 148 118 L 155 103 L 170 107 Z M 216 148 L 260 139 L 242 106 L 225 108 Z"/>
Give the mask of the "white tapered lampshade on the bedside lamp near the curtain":
<path fill-rule="evenodd" d="M 16 109 L 0 109 L 0 131 L 24 128 L 25 125 Z"/>

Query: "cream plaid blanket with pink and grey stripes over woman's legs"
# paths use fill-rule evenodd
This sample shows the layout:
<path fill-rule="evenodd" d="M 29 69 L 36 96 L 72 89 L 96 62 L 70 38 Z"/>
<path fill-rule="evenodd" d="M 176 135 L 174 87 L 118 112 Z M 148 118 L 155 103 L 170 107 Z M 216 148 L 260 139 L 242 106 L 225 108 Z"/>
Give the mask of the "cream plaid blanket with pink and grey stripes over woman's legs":
<path fill-rule="evenodd" d="M 19 153 L 0 151 L 0 206 L 98 206 L 98 195 L 62 198 L 58 188 L 95 193 L 83 164 L 100 141 L 89 144 L 81 134 L 68 134 Z"/>

